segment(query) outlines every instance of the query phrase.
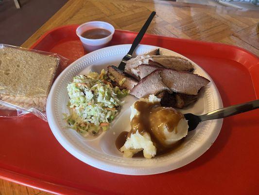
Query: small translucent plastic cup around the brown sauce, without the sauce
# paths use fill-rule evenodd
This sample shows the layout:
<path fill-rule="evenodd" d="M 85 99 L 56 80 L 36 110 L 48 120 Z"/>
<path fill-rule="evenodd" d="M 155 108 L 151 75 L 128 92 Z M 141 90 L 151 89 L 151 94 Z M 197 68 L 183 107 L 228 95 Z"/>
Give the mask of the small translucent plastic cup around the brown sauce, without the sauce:
<path fill-rule="evenodd" d="M 87 30 L 94 29 L 94 28 L 102 28 L 102 29 L 108 30 L 111 32 L 111 34 L 102 39 L 86 39 L 81 36 Z M 107 22 L 90 21 L 90 22 L 86 22 L 86 23 L 80 25 L 76 29 L 76 34 L 80 38 L 86 52 L 92 52 L 94 50 L 101 49 L 101 48 L 107 46 L 108 43 L 110 42 L 110 40 L 112 39 L 114 31 L 115 31 L 114 27 Z"/>

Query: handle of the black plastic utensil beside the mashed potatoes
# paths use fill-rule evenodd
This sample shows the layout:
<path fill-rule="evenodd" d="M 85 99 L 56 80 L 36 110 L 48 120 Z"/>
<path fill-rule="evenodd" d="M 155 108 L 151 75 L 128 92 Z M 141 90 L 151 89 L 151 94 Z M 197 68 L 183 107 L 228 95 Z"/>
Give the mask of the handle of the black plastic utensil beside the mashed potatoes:
<path fill-rule="evenodd" d="M 238 105 L 234 105 L 234 106 L 229 106 L 227 108 L 220 108 L 218 110 L 212 111 L 205 115 L 201 115 L 199 117 L 200 117 L 201 121 L 218 119 L 218 118 L 230 117 L 230 116 L 244 113 L 244 112 L 254 110 L 257 108 L 259 108 L 259 99 L 254 100 L 254 101 L 249 101 L 246 103 L 242 103 L 242 104 L 238 104 Z"/>

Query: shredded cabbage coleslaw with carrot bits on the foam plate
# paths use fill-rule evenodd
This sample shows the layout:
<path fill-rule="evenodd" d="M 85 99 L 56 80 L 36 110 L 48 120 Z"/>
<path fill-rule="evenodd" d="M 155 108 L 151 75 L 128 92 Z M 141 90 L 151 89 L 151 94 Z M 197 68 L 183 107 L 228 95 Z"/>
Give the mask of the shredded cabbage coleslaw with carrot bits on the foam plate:
<path fill-rule="evenodd" d="M 65 119 L 69 128 L 84 137 L 106 131 L 123 104 L 121 98 L 129 94 L 128 90 L 113 87 L 107 79 L 103 69 L 100 75 L 90 72 L 75 76 L 67 86 L 70 114 L 65 114 Z"/>

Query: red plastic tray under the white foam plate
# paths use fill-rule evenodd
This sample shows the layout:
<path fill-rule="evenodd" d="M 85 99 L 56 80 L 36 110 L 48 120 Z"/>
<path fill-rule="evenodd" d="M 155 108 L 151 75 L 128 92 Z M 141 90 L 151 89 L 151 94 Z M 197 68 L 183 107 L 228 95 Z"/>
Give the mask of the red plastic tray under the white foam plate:
<path fill-rule="evenodd" d="M 84 55 L 77 25 L 56 28 L 32 48 L 70 62 Z M 137 33 L 116 30 L 110 45 L 132 43 Z M 259 97 L 259 59 L 242 48 L 145 35 L 142 44 L 178 52 L 215 81 L 224 106 Z M 63 67 L 64 68 L 64 67 Z M 259 192 L 259 110 L 225 118 L 210 149 L 190 164 L 152 176 L 124 176 L 93 168 L 70 155 L 47 122 L 27 115 L 0 118 L 0 177 L 58 194 L 255 195 Z"/>

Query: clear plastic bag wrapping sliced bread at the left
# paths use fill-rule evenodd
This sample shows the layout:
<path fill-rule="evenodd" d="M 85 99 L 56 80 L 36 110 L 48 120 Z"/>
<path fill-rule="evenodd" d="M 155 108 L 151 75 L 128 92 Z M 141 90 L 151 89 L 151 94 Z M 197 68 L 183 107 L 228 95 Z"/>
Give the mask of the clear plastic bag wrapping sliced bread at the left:
<path fill-rule="evenodd" d="M 53 80 L 68 59 L 50 52 L 0 44 L 0 117 L 29 113 L 47 121 Z"/>

